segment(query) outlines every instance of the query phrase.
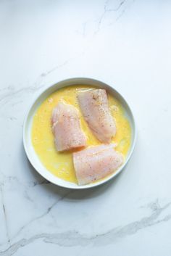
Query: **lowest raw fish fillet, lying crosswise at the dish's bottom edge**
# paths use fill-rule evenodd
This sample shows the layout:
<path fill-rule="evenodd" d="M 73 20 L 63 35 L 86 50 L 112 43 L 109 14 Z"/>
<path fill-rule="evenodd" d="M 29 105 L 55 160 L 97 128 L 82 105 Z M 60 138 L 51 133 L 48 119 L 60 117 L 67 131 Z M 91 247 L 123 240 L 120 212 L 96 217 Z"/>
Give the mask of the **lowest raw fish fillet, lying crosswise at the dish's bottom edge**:
<path fill-rule="evenodd" d="M 91 146 L 73 153 L 75 173 L 79 185 L 85 185 L 113 173 L 123 163 L 115 144 Z"/>

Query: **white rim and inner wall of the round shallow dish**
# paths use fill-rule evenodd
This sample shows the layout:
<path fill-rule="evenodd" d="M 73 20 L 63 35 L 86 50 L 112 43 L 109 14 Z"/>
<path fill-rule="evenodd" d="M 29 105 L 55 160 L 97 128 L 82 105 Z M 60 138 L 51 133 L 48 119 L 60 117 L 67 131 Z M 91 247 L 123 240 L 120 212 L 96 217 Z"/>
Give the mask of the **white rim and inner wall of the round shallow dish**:
<path fill-rule="evenodd" d="M 125 112 L 125 116 L 128 118 L 130 127 L 131 127 L 131 142 L 130 142 L 130 149 L 128 151 L 128 154 L 125 158 L 125 162 L 123 165 L 121 165 L 120 168 L 117 169 L 116 172 L 114 172 L 112 175 L 107 176 L 106 178 L 103 178 L 100 181 L 96 181 L 95 183 L 90 183 L 87 185 L 79 186 L 76 183 L 72 183 L 69 181 L 64 181 L 61 178 L 58 178 L 57 176 L 54 176 L 52 173 L 47 170 L 41 161 L 38 158 L 38 155 L 36 154 L 32 142 L 31 142 L 31 128 L 33 123 L 33 116 L 36 113 L 36 110 L 41 105 L 41 103 L 54 91 L 57 91 L 59 88 L 63 88 L 66 86 L 72 86 L 72 85 L 91 85 L 96 88 L 104 88 L 109 93 L 114 96 L 120 104 L 122 104 L 122 107 Z M 112 86 L 107 85 L 107 83 L 103 83 L 99 80 L 95 80 L 92 78 L 70 78 L 67 80 L 59 81 L 58 83 L 55 83 L 52 86 L 49 86 L 49 88 L 46 88 L 45 91 L 41 92 L 36 99 L 34 100 L 33 104 L 31 104 L 30 110 L 28 111 L 28 115 L 25 117 L 25 123 L 23 126 L 23 144 L 25 148 L 25 152 L 28 156 L 28 160 L 33 165 L 33 167 L 37 170 L 37 172 L 43 176 L 43 178 L 46 178 L 46 180 L 50 181 L 51 183 L 54 183 L 58 186 L 62 186 L 67 189 L 88 189 L 92 188 L 94 186 L 99 186 L 103 183 L 106 183 L 107 181 L 110 181 L 112 178 L 117 176 L 124 168 L 125 165 L 127 165 L 128 161 L 130 160 L 131 155 L 133 154 L 133 149 L 135 146 L 135 138 L 136 138 L 136 129 L 135 129 L 135 120 L 133 117 L 133 113 L 130 110 L 130 107 L 128 106 L 128 103 L 125 101 L 125 99 L 119 94 Z"/>

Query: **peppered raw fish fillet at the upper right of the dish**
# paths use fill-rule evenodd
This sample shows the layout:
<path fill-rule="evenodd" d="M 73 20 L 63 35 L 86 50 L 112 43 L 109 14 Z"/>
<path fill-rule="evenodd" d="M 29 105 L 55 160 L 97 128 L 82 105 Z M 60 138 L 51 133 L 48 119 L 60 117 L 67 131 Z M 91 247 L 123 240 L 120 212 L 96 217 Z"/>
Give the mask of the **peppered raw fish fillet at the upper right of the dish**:
<path fill-rule="evenodd" d="M 116 133 L 114 118 L 109 112 L 107 92 L 103 89 L 83 91 L 78 94 L 83 116 L 99 141 L 109 143 Z"/>

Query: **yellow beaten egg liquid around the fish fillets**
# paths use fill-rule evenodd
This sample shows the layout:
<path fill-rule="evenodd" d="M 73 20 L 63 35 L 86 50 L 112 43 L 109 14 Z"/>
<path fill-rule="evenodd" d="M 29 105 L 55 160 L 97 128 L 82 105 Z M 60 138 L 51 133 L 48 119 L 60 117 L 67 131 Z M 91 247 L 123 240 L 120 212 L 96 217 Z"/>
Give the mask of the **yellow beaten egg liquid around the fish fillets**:
<path fill-rule="evenodd" d="M 77 99 L 78 91 L 90 88 L 93 87 L 68 86 L 55 91 L 38 107 L 33 117 L 32 144 L 39 159 L 54 176 L 74 183 L 77 183 L 77 179 L 72 162 L 72 152 L 57 152 L 57 149 L 55 149 L 54 135 L 51 131 L 51 113 L 59 101 L 72 104 L 77 107 L 80 112 Z M 122 106 L 117 99 L 114 99 L 113 96 L 108 94 L 108 100 L 109 109 L 117 125 L 117 133 L 112 139 L 112 142 L 117 143 L 116 150 L 126 156 L 131 139 L 130 123 L 125 117 Z M 86 133 L 88 146 L 101 144 L 101 142 L 93 136 L 81 112 L 80 124 L 84 133 Z"/>

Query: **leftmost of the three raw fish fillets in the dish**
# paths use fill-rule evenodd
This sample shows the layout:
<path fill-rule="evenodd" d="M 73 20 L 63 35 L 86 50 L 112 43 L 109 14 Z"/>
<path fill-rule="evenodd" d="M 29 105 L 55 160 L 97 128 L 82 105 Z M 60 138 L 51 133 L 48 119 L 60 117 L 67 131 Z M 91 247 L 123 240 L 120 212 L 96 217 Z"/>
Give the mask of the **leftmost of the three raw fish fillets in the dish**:
<path fill-rule="evenodd" d="M 80 128 L 78 110 L 59 102 L 51 117 L 55 146 L 58 151 L 86 146 L 86 136 Z"/>

